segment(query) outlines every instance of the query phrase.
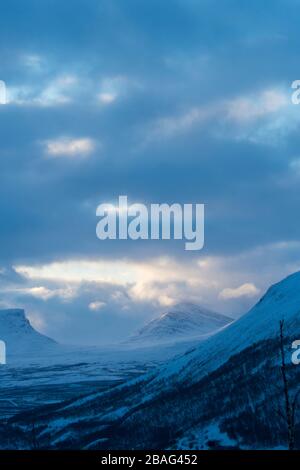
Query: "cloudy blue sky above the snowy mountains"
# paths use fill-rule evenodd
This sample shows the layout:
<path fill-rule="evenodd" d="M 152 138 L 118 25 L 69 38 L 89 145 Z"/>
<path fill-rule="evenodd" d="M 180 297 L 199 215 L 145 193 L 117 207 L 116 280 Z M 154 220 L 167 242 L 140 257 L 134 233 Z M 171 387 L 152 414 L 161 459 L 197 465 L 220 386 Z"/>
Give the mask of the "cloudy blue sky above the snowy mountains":
<path fill-rule="evenodd" d="M 181 301 L 237 317 L 300 268 L 299 0 L 1 8 L 0 307 L 61 342 Z M 100 241 L 96 208 L 204 203 L 205 246 Z"/>

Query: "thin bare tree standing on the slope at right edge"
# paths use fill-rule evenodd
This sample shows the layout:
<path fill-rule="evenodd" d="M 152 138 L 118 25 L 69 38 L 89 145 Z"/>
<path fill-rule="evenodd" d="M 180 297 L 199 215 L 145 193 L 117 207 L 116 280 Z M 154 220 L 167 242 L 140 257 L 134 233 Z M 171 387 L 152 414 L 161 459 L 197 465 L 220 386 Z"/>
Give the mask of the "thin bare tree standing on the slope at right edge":
<path fill-rule="evenodd" d="M 287 366 L 284 352 L 284 320 L 280 320 L 280 356 L 281 356 L 281 375 L 283 381 L 283 391 L 285 400 L 285 419 L 288 429 L 288 447 L 289 450 L 295 448 L 295 414 L 297 400 L 300 396 L 300 389 L 296 392 L 295 396 L 291 397 L 290 387 L 287 379 Z"/>

